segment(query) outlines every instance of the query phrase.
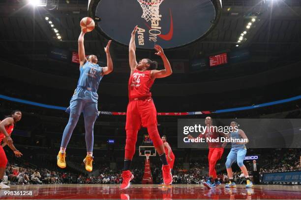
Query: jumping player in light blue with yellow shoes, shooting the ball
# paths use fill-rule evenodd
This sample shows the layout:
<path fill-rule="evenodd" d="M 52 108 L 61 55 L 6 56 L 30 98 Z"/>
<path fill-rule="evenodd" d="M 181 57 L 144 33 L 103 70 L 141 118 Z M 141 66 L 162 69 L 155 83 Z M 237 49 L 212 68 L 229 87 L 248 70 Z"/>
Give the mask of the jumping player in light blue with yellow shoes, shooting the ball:
<path fill-rule="evenodd" d="M 105 48 L 105 52 L 107 54 L 107 67 L 99 67 L 99 65 L 97 64 L 97 57 L 95 55 L 89 55 L 85 57 L 84 35 L 85 33 L 82 31 L 78 38 L 80 77 L 78 80 L 77 88 L 75 89 L 73 97 L 70 100 L 70 106 L 66 110 L 66 112 L 70 113 L 70 117 L 62 135 L 60 152 L 57 156 L 57 164 L 60 168 L 66 167 L 65 150 L 72 135 L 72 132 L 78 122 L 78 119 L 81 113 L 83 112 L 85 119 L 87 145 L 87 156 L 84 159 L 84 163 L 86 165 L 86 170 L 88 172 L 91 172 L 94 142 L 93 126 L 98 116 L 97 89 L 102 77 L 113 71 L 113 62 L 110 55 L 111 40 L 108 42 L 108 45 Z"/>

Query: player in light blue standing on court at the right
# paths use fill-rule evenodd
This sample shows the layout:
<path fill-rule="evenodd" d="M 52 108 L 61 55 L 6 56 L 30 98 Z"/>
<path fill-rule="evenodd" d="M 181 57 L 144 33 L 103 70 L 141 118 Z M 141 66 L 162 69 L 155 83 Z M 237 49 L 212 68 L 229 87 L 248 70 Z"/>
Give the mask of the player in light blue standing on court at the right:
<path fill-rule="evenodd" d="M 234 132 L 230 132 L 230 137 L 231 138 L 237 138 L 237 139 L 246 139 L 247 142 L 249 141 L 243 130 L 238 129 L 238 124 L 236 122 L 231 122 L 230 124 L 234 130 Z M 251 188 L 253 186 L 253 183 L 250 181 L 248 171 L 246 167 L 243 164 L 243 158 L 246 154 L 246 148 L 245 144 L 247 142 L 237 142 L 237 143 L 231 143 L 232 147 L 231 150 L 227 156 L 227 161 L 226 161 L 226 168 L 227 168 L 227 173 L 229 177 L 229 183 L 225 185 L 226 188 L 230 187 L 236 187 L 235 182 L 233 182 L 233 174 L 232 174 L 232 169 L 231 165 L 234 162 L 237 162 L 238 166 L 241 168 L 241 172 L 246 178 L 246 188 Z"/>

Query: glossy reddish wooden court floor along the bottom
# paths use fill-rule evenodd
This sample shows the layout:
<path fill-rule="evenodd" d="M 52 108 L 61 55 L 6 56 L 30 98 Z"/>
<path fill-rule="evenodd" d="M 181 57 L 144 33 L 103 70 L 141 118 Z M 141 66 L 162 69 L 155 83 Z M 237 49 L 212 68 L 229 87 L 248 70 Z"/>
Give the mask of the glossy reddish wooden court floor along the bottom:
<path fill-rule="evenodd" d="M 207 189 L 203 185 L 137 184 L 120 190 L 119 185 L 110 184 L 12 185 L 9 190 L 0 190 L 0 200 L 8 199 L 301 199 L 301 186 L 256 185 L 246 189 L 237 185 L 228 189 L 219 185 Z"/>

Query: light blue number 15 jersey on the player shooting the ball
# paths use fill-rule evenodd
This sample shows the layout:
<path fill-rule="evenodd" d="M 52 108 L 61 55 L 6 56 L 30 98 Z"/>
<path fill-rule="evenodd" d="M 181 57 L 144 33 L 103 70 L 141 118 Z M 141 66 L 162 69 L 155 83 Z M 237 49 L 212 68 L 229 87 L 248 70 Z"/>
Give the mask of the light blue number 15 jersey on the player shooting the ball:
<path fill-rule="evenodd" d="M 77 87 L 90 88 L 91 91 L 96 92 L 102 77 L 102 67 L 87 61 L 80 67 L 80 77 Z"/>

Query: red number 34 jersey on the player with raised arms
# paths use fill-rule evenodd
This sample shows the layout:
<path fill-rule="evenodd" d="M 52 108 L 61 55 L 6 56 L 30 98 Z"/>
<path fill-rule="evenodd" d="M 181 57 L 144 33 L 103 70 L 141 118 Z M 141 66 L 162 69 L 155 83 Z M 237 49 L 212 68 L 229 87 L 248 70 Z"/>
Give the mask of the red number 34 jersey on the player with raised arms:
<path fill-rule="evenodd" d="M 130 100 L 135 98 L 151 97 L 151 86 L 154 80 L 151 78 L 151 71 L 140 72 L 135 70 L 128 81 L 128 97 Z"/>

